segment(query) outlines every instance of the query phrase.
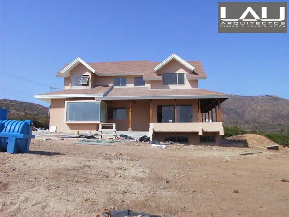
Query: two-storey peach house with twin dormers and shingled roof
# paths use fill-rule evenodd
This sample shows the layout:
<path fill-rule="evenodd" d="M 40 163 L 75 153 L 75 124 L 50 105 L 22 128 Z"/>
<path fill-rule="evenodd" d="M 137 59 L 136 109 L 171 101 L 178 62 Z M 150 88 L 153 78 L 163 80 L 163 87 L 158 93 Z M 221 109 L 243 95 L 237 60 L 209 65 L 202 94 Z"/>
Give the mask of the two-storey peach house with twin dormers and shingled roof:
<path fill-rule="evenodd" d="M 220 104 L 230 95 L 198 88 L 200 61 L 172 54 L 162 62 L 86 63 L 76 58 L 57 74 L 64 90 L 35 95 L 50 102 L 57 132 L 144 131 L 158 141 L 220 144 Z"/>

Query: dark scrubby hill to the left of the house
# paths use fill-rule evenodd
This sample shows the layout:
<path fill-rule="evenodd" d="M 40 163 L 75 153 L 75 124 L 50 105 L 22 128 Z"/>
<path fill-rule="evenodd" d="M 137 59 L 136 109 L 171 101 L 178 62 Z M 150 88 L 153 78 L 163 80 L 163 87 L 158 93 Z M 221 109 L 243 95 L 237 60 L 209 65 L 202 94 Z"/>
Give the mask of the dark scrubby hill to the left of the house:
<path fill-rule="evenodd" d="M 8 119 L 33 120 L 35 127 L 49 127 L 48 108 L 39 104 L 0 99 L 0 108 L 8 109 Z"/>

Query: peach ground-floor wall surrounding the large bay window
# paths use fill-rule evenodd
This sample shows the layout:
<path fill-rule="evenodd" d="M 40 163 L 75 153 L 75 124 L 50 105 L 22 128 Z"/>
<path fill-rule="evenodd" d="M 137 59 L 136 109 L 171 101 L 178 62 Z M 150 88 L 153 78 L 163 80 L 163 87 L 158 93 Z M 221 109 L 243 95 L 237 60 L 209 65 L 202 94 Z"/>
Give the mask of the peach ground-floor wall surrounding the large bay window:
<path fill-rule="evenodd" d="M 51 99 L 50 102 L 50 121 L 49 126 L 56 126 L 56 132 L 64 133 L 96 133 L 98 131 L 98 124 L 66 124 L 64 120 L 65 116 L 65 101 L 66 100 L 79 100 L 79 99 Z M 86 98 L 82 100 L 91 100 Z"/>

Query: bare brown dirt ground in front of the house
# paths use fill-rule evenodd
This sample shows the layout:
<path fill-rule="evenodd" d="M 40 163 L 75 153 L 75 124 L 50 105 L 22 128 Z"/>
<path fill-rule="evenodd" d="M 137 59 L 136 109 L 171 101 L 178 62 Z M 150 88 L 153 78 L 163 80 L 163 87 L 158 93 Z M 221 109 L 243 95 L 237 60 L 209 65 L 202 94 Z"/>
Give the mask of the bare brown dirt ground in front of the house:
<path fill-rule="evenodd" d="M 32 140 L 29 154 L 0 153 L 0 216 L 96 216 L 105 209 L 289 216 L 289 182 L 281 181 L 289 179 L 288 148 L 160 149 L 44 138 Z"/>

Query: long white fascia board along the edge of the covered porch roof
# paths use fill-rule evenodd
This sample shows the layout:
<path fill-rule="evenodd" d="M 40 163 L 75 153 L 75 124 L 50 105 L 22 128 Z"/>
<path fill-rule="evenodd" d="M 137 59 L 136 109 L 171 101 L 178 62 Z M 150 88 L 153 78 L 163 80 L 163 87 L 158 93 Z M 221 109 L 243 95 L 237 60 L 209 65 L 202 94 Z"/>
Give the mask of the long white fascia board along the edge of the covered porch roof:
<path fill-rule="evenodd" d="M 95 100 L 161 100 L 161 99 L 222 99 L 231 95 L 191 95 L 191 96 L 104 96 L 95 97 Z"/>

